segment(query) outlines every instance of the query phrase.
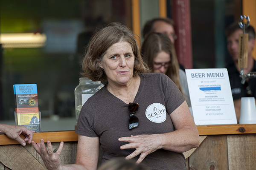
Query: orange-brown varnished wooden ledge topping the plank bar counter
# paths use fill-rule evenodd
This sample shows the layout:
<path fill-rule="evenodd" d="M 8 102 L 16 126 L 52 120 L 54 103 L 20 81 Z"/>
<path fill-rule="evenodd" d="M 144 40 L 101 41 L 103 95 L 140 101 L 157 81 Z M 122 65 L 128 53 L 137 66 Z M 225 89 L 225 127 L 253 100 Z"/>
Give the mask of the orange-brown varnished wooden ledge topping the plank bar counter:
<path fill-rule="evenodd" d="M 202 125 L 197 126 L 200 136 L 203 135 L 233 135 L 233 134 L 248 134 L 256 133 L 256 124 L 235 124 L 235 125 Z M 20 135 L 21 138 L 25 136 Z M 39 142 L 44 139 L 51 142 L 72 142 L 77 141 L 78 136 L 75 131 L 60 131 L 60 132 L 43 132 L 34 133 L 33 141 Z M 0 145 L 19 144 L 17 141 L 8 138 L 6 135 L 0 135 Z"/>

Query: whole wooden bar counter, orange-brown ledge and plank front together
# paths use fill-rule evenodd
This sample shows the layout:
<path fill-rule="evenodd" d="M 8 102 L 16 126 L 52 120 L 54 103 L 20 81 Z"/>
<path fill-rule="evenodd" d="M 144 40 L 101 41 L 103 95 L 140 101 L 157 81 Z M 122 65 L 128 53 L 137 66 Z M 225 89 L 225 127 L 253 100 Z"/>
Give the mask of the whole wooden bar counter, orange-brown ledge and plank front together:
<path fill-rule="evenodd" d="M 197 128 L 200 146 L 184 153 L 188 170 L 256 169 L 256 125 L 203 125 Z M 63 141 L 61 164 L 75 162 L 78 140 L 75 131 L 35 133 L 33 140 L 39 142 L 40 139 L 51 141 L 55 151 Z M 46 170 L 31 144 L 23 147 L 6 135 L 0 135 L 0 145 L 0 170 L 6 167 Z"/>

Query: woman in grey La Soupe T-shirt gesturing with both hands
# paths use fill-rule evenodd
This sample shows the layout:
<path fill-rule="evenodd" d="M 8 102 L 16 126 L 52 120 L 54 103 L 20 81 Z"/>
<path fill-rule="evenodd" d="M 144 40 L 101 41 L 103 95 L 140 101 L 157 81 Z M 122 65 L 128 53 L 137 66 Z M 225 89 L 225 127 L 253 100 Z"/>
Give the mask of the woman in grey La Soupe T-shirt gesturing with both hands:
<path fill-rule="evenodd" d="M 90 41 L 83 60 L 84 76 L 108 83 L 81 108 L 75 164 L 63 165 L 61 142 L 32 141 L 48 170 L 96 170 L 121 157 L 156 170 L 186 170 L 183 152 L 198 147 L 199 135 L 184 96 L 169 77 L 148 73 L 133 32 L 111 23 Z"/>

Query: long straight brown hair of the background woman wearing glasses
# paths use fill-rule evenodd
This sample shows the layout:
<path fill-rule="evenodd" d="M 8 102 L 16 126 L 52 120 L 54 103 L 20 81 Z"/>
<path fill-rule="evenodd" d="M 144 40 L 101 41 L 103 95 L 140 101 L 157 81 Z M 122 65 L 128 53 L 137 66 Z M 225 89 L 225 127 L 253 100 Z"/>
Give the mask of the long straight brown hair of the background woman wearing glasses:
<path fill-rule="evenodd" d="M 152 72 L 154 71 L 154 58 L 157 57 L 157 54 L 162 51 L 166 52 L 171 57 L 171 64 L 166 72 L 166 75 L 172 79 L 175 85 L 177 85 L 177 87 L 180 89 L 181 93 L 184 94 L 180 86 L 180 66 L 176 56 L 174 44 L 165 34 L 149 34 L 143 42 L 141 54 L 143 60 L 147 63 Z"/>

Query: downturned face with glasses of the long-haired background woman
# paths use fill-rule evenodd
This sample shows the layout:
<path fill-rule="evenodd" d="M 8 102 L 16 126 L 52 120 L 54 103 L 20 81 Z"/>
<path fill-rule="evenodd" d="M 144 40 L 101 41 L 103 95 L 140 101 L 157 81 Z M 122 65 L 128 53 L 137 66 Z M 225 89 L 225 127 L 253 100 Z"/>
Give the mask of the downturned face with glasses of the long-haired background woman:
<path fill-rule="evenodd" d="M 154 73 L 163 73 L 166 74 L 166 71 L 168 70 L 170 63 L 171 63 L 171 57 L 170 54 L 161 51 L 157 54 L 157 56 L 153 60 L 154 64 Z"/>

